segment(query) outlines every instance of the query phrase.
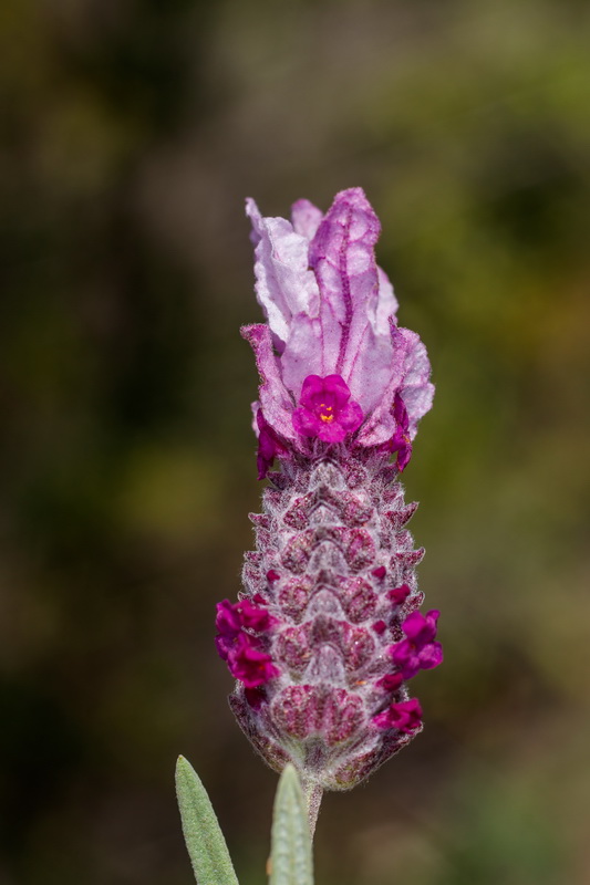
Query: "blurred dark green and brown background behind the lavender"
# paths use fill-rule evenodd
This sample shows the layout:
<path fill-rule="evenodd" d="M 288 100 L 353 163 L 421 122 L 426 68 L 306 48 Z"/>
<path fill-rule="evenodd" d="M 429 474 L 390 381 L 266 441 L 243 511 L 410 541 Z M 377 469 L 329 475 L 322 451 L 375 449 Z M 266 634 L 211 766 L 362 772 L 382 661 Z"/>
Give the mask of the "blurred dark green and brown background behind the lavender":
<path fill-rule="evenodd" d="M 2 885 L 192 882 L 178 752 L 265 881 L 213 646 L 260 493 L 242 200 L 356 185 L 434 366 L 446 660 L 318 882 L 590 882 L 589 39 L 581 0 L 2 0 Z"/>

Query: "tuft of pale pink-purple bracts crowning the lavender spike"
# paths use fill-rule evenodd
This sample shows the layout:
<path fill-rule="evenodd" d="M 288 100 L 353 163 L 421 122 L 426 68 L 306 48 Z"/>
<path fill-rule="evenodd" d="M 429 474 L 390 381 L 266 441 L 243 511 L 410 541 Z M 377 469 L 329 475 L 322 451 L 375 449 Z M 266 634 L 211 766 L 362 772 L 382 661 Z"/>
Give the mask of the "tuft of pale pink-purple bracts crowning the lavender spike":
<path fill-rule="evenodd" d="M 260 374 L 256 408 L 283 447 L 273 450 L 268 435 L 262 438 L 260 473 L 266 476 L 271 454 L 308 454 L 310 438 L 343 441 L 351 433 L 342 433 L 345 425 L 355 425 L 354 447 L 389 446 L 403 469 L 434 388 L 420 337 L 396 324 L 392 285 L 375 262 L 381 226 L 363 190 L 341 191 L 325 215 L 298 200 L 292 222 L 265 218 L 251 199 L 246 211 L 256 243 L 256 292 L 268 325 L 245 326 L 242 335 Z M 302 414 L 310 376 L 338 376 L 350 392 L 341 429 L 334 423 L 314 433 L 315 424 Z"/>

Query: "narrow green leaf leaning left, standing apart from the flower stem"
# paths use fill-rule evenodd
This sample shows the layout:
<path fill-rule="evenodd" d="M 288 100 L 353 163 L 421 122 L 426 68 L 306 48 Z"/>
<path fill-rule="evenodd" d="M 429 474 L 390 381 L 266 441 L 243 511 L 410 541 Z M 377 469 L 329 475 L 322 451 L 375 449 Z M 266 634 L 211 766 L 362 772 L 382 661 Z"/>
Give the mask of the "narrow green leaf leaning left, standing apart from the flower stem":
<path fill-rule="evenodd" d="M 238 885 L 207 791 L 183 756 L 178 757 L 176 763 L 176 795 L 186 847 L 198 885 Z"/>

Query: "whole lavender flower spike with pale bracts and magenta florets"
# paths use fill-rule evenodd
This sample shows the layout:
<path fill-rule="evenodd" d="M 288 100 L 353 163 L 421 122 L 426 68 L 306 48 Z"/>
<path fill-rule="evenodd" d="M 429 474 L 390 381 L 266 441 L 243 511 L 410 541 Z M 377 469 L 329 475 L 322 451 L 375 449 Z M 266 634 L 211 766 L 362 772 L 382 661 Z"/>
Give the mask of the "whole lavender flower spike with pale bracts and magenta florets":
<path fill-rule="evenodd" d="M 438 612 L 417 611 L 423 551 L 404 529 L 416 504 L 398 482 L 434 388 L 424 345 L 397 326 L 360 188 L 324 216 L 307 200 L 291 222 L 252 200 L 247 214 L 267 323 L 242 335 L 271 486 L 251 516 L 245 592 L 219 603 L 216 642 L 241 728 L 272 768 L 291 761 L 312 795 L 353 787 L 422 729 L 406 681 L 443 659 Z"/>

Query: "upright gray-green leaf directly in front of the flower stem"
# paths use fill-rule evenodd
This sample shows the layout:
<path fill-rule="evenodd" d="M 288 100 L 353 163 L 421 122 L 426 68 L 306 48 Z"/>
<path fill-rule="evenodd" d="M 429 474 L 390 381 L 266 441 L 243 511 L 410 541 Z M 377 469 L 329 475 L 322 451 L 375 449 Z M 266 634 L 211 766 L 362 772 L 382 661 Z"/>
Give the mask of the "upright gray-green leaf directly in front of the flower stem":
<path fill-rule="evenodd" d="M 280 777 L 275 799 L 270 885 L 313 885 L 308 809 L 291 764 Z"/>

